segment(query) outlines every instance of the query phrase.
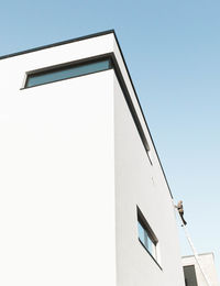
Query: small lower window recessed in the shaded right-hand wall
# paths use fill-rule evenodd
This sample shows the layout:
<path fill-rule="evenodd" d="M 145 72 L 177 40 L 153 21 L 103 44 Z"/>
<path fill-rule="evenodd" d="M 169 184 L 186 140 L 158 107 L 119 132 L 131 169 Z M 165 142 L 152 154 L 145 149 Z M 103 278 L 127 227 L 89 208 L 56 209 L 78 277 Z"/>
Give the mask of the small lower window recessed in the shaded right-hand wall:
<path fill-rule="evenodd" d="M 147 223 L 146 219 L 144 218 L 141 210 L 138 208 L 138 232 L 139 232 L 139 241 L 141 242 L 142 246 L 154 257 L 155 261 L 158 260 L 157 257 L 157 243 L 158 240 L 156 235 L 152 231 L 150 224 Z"/>

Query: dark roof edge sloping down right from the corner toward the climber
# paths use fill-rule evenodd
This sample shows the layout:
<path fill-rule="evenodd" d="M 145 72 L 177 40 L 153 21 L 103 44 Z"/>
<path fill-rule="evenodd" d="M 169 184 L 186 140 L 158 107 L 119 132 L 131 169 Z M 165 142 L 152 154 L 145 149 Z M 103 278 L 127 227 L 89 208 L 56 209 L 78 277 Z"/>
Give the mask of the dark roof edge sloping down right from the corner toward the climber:
<path fill-rule="evenodd" d="M 145 119 L 145 116 L 144 116 L 143 109 L 142 109 L 142 107 L 141 107 L 141 102 L 140 102 L 140 100 L 139 100 L 139 97 L 138 97 L 136 90 L 135 90 L 135 88 L 134 88 L 134 84 L 133 84 L 133 81 L 132 81 L 132 78 L 131 78 L 131 75 L 130 75 L 130 72 L 129 72 L 129 68 L 128 68 L 127 62 L 125 62 L 125 59 L 124 59 L 124 56 L 123 56 L 123 53 L 122 53 L 121 46 L 120 46 L 120 44 L 119 44 L 119 40 L 118 40 L 117 34 L 116 34 L 114 31 L 113 31 L 113 34 L 114 34 L 114 36 L 116 36 L 116 41 L 117 41 L 117 44 L 118 44 L 118 46 L 119 46 L 119 51 L 120 51 L 120 53 L 121 53 L 121 56 L 122 56 L 122 59 L 123 59 L 123 63 L 124 63 L 124 66 L 125 66 L 127 73 L 128 73 L 128 75 L 129 75 L 129 79 L 130 79 L 131 85 L 132 85 L 132 88 L 133 88 L 133 90 L 134 90 L 134 95 L 135 95 L 135 97 L 136 97 L 136 101 L 138 101 L 138 103 L 139 103 L 139 107 L 140 107 L 141 113 L 142 113 L 142 117 L 143 117 L 143 119 L 144 119 L 144 122 L 145 122 L 145 125 L 146 125 L 147 132 L 148 132 L 148 134 L 150 134 L 150 138 L 151 138 L 151 141 L 152 141 L 152 144 L 153 144 L 153 147 L 154 147 L 154 150 L 155 150 L 155 153 L 156 153 L 156 156 L 157 156 L 157 160 L 158 160 L 158 163 L 160 163 L 160 166 L 161 166 L 162 173 L 163 173 L 163 175 L 164 175 L 164 178 L 165 178 L 166 185 L 167 185 L 167 187 L 168 187 L 168 191 L 169 191 L 170 197 L 172 197 L 172 199 L 173 199 L 174 197 L 173 197 L 173 194 L 172 194 L 170 187 L 169 187 L 169 185 L 168 185 L 168 180 L 167 180 L 167 178 L 166 178 L 166 174 L 165 174 L 164 168 L 163 168 L 163 166 L 162 166 L 162 162 L 161 162 L 160 156 L 158 156 L 158 153 L 157 153 L 157 151 L 156 151 L 156 146 L 155 146 L 155 144 L 154 144 L 154 141 L 153 141 L 153 138 L 152 138 L 151 131 L 150 131 L 148 125 L 147 125 L 147 123 L 146 123 L 146 119 Z"/>

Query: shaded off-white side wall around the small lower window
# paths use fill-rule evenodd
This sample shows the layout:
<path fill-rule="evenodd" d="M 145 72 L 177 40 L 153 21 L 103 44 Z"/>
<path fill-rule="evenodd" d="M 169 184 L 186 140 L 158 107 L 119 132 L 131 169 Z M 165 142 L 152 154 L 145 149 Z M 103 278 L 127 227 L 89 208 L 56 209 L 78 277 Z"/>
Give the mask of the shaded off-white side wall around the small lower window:
<path fill-rule="evenodd" d="M 120 286 L 184 286 L 172 198 L 157 164 L 151 165 L 114 78 L 117 261 Z M 136 205 L 158 239 L 158 267 L 138 237 Z"/>

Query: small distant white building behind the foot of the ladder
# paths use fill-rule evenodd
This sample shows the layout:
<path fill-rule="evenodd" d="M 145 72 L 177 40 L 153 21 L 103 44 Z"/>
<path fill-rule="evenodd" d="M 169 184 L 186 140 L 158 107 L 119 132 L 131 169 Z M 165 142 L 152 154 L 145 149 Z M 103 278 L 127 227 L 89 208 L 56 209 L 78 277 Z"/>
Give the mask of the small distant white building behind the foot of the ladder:
<path fill-rule="evenodd" d="M 199 264 L 211 286 L 220 286 L 215 266 L 213 253 L 199 254 Z M 207 286 L 206 278 L 194 255 L 182 258 L 186 286 Z"/>

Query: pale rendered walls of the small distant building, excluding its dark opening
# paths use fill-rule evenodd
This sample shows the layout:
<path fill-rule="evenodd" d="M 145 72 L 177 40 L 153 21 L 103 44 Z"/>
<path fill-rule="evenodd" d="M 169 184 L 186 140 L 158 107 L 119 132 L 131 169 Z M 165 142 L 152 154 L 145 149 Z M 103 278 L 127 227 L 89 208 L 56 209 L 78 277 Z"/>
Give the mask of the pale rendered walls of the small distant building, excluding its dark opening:
<path fill-rule="evenodd" d="M 199 257 L 199 263 L 201 265 L 201 268 L 202 268 L 206 277 L 208 278 L 209 283 L 211 283 L 210 286 L 220 286 L 220 283 L 219 283 L 218 276 L 217 276 L 213 253 L 202 253 L 202 254 L 199 254 L 198 257 Z M 182 257 L 182 263 L 183 263 L 183 266 L 194 265 L 198 286 L 207 286 L 207 282 L 206 282 L 194 255 Z"/>

